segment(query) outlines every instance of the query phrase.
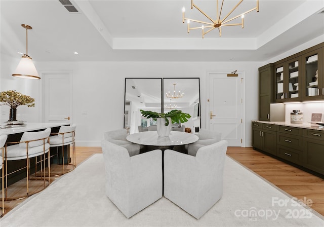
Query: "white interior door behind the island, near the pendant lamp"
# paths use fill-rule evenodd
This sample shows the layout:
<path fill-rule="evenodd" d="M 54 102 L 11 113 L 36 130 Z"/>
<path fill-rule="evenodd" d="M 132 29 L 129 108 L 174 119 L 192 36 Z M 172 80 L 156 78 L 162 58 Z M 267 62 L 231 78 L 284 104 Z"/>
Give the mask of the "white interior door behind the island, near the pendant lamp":
<path fill-rule="evenodd" d="M 70 122 L 72 116 L 71 73 L 43 73 L 43 79 L 44 122 Z"/>

